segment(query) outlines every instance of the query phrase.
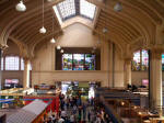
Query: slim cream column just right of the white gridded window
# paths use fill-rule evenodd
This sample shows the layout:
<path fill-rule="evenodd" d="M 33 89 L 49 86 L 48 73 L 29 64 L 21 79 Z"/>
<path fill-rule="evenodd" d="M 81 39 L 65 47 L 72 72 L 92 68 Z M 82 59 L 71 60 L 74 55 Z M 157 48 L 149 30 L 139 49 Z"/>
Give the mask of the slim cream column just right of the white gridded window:
<path fill-rule="evenodd" d="M 23 88 L 30 88 L 30 65 L 31 62 L 27 58 L 24 58 L 24 71 L 23 71 Z"/>

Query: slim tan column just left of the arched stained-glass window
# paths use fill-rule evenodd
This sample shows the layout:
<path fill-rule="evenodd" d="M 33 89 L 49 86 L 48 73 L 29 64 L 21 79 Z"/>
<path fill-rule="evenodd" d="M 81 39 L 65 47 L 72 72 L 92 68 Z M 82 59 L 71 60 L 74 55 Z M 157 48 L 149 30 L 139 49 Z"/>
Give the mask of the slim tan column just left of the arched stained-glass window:
<path fill-rule="evenodd" d="M 125 87 L 131 85 L 131 58 L 125 59 Z"/>

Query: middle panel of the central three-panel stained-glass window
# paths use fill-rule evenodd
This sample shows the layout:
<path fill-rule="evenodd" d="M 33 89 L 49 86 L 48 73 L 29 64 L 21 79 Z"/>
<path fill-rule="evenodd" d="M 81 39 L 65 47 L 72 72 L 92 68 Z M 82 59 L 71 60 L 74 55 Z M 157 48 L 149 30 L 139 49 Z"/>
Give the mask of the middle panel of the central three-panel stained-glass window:
<path fill-rule="evenodd" d="M 84 70 L 84 54 L 73 54 L 73 70 Z"/>

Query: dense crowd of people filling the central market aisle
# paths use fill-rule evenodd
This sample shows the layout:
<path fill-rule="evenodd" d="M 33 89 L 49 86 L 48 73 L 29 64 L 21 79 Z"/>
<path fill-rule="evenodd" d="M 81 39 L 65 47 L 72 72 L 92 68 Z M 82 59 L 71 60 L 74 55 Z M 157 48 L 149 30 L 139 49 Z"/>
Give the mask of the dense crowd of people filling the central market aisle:
<path fill-rule="evenodd" d="M 45 123 L 113 123 L 105 110 L 95 99 L 82 100 L 81 97 L 59 96 L 60 110 L 51 113 Z"/>

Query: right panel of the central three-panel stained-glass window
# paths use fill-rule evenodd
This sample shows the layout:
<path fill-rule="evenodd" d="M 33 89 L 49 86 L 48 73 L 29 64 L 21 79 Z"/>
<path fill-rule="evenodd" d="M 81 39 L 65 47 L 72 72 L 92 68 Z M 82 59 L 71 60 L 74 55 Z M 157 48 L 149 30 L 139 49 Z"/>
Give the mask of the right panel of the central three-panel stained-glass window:
<path fill-rule="evenodd" d="M 95 55 L 85 54 L 85 70 L 95 70 Z"/>

